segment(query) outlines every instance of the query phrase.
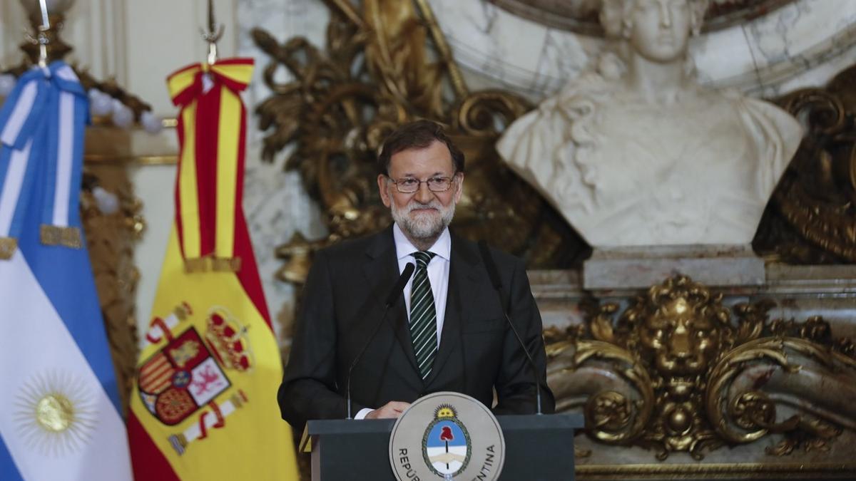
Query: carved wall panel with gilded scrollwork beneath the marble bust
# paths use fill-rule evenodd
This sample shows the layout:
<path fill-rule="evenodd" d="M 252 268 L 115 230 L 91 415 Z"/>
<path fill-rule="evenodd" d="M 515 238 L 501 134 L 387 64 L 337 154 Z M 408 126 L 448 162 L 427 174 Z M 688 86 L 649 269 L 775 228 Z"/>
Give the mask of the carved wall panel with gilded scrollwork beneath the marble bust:
<path fill-rule="evenodd" d="M 557 408 L 590 430 L 575 440 L 578 478 L 856 476 L 849 267 L 769 265 L 756 288 L 677 277 L 592 293 L 574 270 L 529 277 Z M 768 431 L 746 428 L 747 407 Z"/>

